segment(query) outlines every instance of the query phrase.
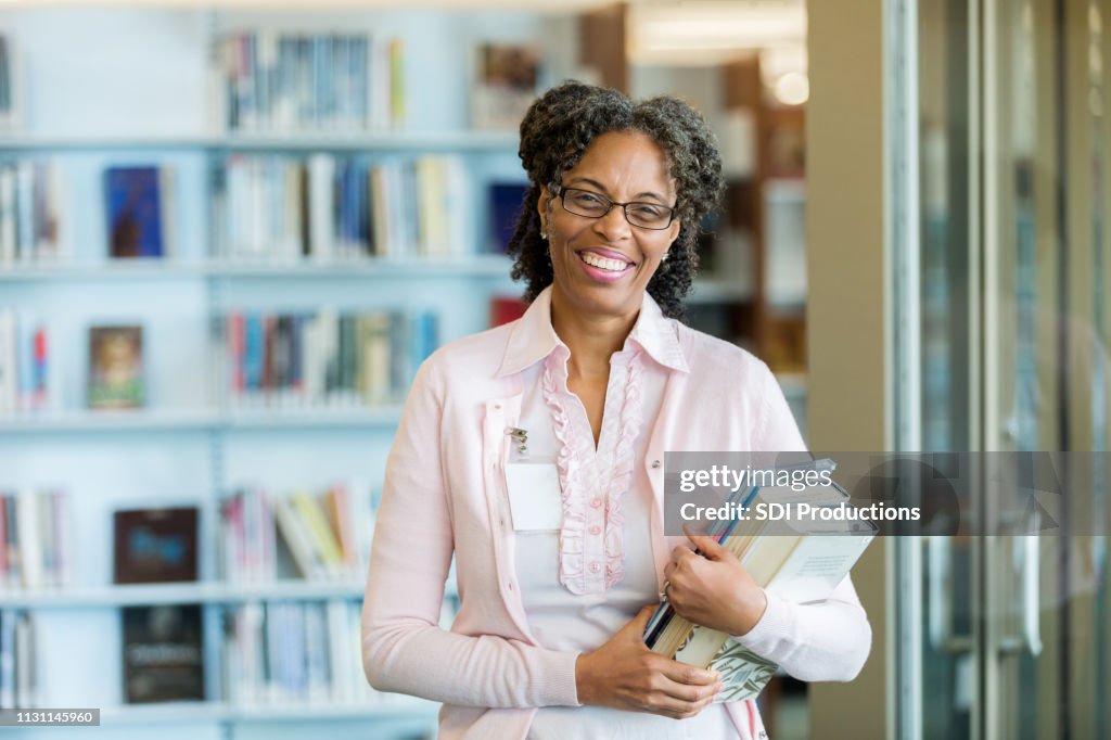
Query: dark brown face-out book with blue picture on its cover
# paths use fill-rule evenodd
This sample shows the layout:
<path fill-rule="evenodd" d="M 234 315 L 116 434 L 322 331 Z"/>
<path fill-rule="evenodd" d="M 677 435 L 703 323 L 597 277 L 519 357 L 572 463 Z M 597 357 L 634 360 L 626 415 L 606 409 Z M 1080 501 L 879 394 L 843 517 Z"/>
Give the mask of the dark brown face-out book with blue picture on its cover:
<path fill-rule="evenodd" d="M 117 583 L 197 580 L 197 507 L 113 514 Z"/>

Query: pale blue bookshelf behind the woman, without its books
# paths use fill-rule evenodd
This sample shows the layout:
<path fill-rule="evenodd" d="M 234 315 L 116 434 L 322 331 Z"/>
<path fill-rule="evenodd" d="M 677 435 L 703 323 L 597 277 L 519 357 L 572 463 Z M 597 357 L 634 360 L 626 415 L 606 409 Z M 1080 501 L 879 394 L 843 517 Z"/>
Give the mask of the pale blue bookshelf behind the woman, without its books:
<path fill-rule="evenodd" d="M 608 16 L 591 16 L 588 24 Z M 0 308 L 32 311 L 50 329 L 51 402 L 0 418 L 0 489 L 50 486 L 69 493 L 71 583 L 7 590 L 0 608 L 34 616 L 39 704 L 99 707 L 111 737 L 300 738 L 328 721 L 338 738 L 420 737 L 436 707 L 406 698 L 356 701 L 229 701 L 221 672 L 224 614 L 246 604 L 356 604 L 358 579 L 222 582 L 220 506 L 241 486 L 281 494 L 337 481 L 380 481 L 398 399 L 354 408 L 236 408 L 228 399 L 227 337 L 213 324 L 236 311 L 428 310 L 447 341 L 487 328 L 489 299 L 519 293 L 506 257 L 489 253 L 484 190 L 520 181 L 514 132 L 468 126 L 471 50 L 480 41 L 541 49 L 541 87 L 578 73 L 580 19 L 504 9 L 313 11 L 184 8 L 17 8 L 0 31 L 19 40 L 24 128 L 0 136 L 0 162 L 49 159 L 59 168 L 60 257 L 0 264 Z M 404 43 L 406 120 L 397 128 L 303 133 L 228 132 L 212 103 L 213 39 L 258 29 L 380 33 Z M 603 60 L 604 61 L 604 60 Z M 168 83 L 171 81 L 172 83 Z M 431 82 L 430 82 L 431 81 Z M 420 156 L 456 158 L 474 214 L 447 256 L 259 260 L 219 256 L 213 171 L 231 154 L 368 164 Z M 109 167 L 174 172 L 174 250 L 159 259 L 111 260 L 102 192 Z M 751 288 L 719 272 L 699 281 L 692 304 L 743 301 Z M 87 331 L 140 322 L 149 404 L 84 408 Z M 377 487 L 376 487 L 377 488 Z M 126 507 L 200 509 L 199 580 L 111 584 L 111 513 Z M 453 579 L 446 593 L 456 598 Z M 121 612 L 201 604 L 207 700 L 164 706 L 123 701 Z M 28 731 L 47 737 L 51 730 Z"/>

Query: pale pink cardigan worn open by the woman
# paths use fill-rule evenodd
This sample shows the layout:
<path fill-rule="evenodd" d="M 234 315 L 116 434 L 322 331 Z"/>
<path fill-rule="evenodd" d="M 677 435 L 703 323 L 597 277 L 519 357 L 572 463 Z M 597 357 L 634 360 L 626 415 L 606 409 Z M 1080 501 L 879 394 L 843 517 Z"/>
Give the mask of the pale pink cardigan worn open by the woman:
<path fill-rule="evenodd" d="M 451 342 L 420 368 L 387 462 L 362 613 L 370 683 L 443 702 L 440 738 L 524 740 L 534 708 L 578 706 L 578 653 L 548 650 L 529 633 L 516 584 L 513 529 L 502 461 L 521 400 L 520 371 L 537 361 L 550 288 L 512 323 Z M 645 467 L 657 507 L 658 571 L 671 548 L 663 534 L 663 460 L 669 451 L 804 449 L 772 373 L 733 344 L 663 318 L 644 298 L 640 334 L 669 357 Z M 550 334 L 550 330 L 547 332 Z M 456 558 L 460 609 L 438 626 Z M 851 680 L 871 629 L 849 579 L 833 598 L 791 604 L 772 597 L 743 638 L 758 654 L 803 680 Z M 755 702 L 728 707 L 740 737 L 763 732 Z"/>

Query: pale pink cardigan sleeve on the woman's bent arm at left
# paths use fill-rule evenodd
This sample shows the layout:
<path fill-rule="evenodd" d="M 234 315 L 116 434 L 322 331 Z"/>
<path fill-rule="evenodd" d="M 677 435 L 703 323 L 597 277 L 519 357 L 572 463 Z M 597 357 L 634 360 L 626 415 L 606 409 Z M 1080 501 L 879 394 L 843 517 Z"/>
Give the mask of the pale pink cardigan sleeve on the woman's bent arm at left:
<path fill-rule="evenodd" d="M 367 679 L 381 691 L 458 706 L 578 706 L 577 652 L 439 627 L 454 546 L 436 359 L 417 374 L 387 460 L 362 609 Z"/>

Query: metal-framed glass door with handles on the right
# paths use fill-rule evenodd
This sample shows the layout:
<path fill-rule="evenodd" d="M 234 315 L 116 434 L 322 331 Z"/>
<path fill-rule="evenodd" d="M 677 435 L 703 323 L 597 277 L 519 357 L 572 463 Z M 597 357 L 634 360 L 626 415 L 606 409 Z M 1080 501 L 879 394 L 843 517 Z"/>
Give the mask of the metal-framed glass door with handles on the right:
<path fill-rule="evenodd" d="M 917 3 L 923 450 L 1107 451 L 1111 0 Z M 1107 531 L 1109 471 L 1062 526 Z M 964 501 L 992 520 L 992 501 Z M 1088 527 L 1088 522 L 1102 522 Z M 904 540 L 900 736 L 1111 737 L 1105 538 Z"/>

